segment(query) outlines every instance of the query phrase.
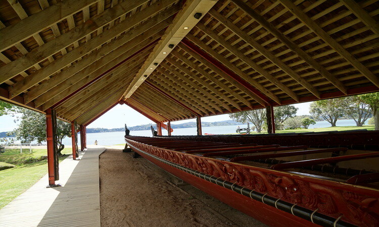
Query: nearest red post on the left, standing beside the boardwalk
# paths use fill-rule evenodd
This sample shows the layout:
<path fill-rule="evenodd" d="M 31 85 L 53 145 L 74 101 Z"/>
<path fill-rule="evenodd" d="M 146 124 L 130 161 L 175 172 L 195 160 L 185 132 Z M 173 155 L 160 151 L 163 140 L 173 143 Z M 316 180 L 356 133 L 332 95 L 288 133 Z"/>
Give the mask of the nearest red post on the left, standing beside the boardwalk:
<path fill-rule="evenodd" d="M 55 185 L 55 161 L 54 161 L 54 142 L 53 142 L 53 116 L 52 109 L 46 109 L 46 141 L 48 143 L 48 171 L 49 186 Z"/>

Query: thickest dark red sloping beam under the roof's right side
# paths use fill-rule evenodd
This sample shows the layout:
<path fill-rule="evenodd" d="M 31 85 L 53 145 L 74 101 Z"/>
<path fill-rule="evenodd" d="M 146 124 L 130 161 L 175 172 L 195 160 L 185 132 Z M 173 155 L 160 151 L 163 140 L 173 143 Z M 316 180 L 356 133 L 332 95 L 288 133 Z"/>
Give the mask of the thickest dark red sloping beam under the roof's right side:
<path fill-rule="evenodd" d="M 256 94 L 258 97 L 260 97 L 263 101 L 270 103 L 271 100 L 262 94 L 259 90 L 254 88 L 251 84 L 249 84 L 246 80 L 242 79 L 239 75 L 235 74 L 231 70 L 229 70 L 227 67 L 225 67 L 223 64 L 221 64 L 216 59 L 212 58 L 209 54 L 207 54 L 205 51 L 200 49 L 198 46 L 196 46 L 193 42 L 189 41 L 188 39 L 184 38 L 181 40 L 181 43 L 183 43 L 188 48 L 192 49 L 197 54 L 201 55 L 205 60 L 207 60 L 209 63 L 220 69 L 222 72 L 224 72 L 229 77 L 233 78 L 233 80 L 237 81 L 242 86 L 246 87 L 249 91 Z"/>

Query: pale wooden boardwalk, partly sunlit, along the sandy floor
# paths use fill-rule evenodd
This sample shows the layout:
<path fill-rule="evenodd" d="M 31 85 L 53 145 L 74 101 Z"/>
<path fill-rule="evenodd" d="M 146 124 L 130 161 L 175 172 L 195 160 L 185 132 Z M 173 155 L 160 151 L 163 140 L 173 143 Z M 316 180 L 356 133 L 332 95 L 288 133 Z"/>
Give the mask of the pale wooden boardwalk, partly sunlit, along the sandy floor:
<path fill-rule="evenodd" d="M 88 148 L 80 161 L 63 160 L 62 187 L 46 188 L 44 176 L 0 210 L 0 226 L 100 226 L 99 155 L 104 150 Z"/>

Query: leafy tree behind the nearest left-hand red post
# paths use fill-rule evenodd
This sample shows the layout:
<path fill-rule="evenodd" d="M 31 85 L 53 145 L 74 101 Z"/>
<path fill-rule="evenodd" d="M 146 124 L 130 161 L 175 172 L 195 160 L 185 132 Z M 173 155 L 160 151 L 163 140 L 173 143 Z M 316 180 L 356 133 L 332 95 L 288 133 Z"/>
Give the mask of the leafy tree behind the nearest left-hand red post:
<path fill-rule="evenodd" d="M 12 133 L 17 140 L 21 142 L 34 141 L 38 143 L 46 140 L 46 117 L 42 113 L 29 110 L 22 107 L 17 107 L 15 112 L 21 113 L 21 117 L 17 117 L 19 123 Z M 66 136 L 71 137 L 71 124 L 57 120 L 57 153 L 62 155 L 61 151 L 65 148 L 62 144 L 62 139 Z"/>

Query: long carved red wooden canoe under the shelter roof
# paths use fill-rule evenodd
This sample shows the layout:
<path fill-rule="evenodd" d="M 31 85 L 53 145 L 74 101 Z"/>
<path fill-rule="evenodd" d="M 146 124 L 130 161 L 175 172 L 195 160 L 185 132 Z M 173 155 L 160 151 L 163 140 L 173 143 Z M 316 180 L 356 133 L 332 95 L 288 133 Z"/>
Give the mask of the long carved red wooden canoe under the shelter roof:
<path fill-rule="evenodd" d="M 272 226 L 379 226 L 379 131 L 125 136 L 139 155 Z"/>

